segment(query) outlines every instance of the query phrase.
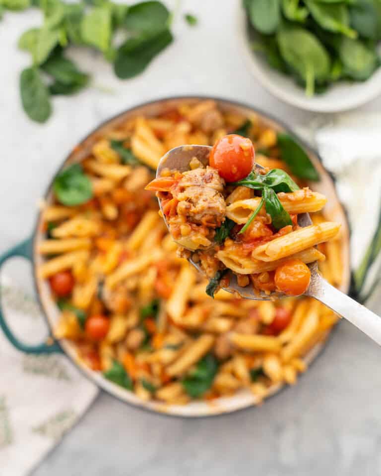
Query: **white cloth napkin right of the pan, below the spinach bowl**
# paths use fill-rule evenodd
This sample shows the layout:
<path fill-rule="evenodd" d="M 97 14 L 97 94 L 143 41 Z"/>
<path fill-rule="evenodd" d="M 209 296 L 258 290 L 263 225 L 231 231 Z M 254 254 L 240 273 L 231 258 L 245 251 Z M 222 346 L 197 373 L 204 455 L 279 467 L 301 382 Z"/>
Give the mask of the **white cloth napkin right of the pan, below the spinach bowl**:
<path fill-rule="evenodd" d="M 296 131 L 318 150 L 324 166 L 337 180 L 337 191 L 351 226 L 351 261 L 356 269 L 380 216 L 381 114 L 320 116 L 308 128 L 297 127 Z M 374 282 L 380 261 L 381 253 L 373 263 L 368 285 Z"/>

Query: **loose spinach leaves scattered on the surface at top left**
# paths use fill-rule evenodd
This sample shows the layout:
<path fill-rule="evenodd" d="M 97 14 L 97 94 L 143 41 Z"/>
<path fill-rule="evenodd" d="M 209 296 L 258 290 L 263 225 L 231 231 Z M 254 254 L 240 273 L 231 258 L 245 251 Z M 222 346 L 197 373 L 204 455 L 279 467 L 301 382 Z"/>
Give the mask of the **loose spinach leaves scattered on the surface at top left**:
<path fill-rule="evenodd" d="M 111 0 L 0 0 L 1 12 L 29 7 L 41 9 L 44 20 L 19 39 L 19 48 L 31 56 L 19 86 L 24 111 L 37 122 L 51 116 L 51 96 L 75 94 L 90 83 L 89 74 L 65 55 L 67 48 L 98 50 L 116 75 L 127 79 L 173 41 L 171 14 L 161 1 L 128 6 Z"/>

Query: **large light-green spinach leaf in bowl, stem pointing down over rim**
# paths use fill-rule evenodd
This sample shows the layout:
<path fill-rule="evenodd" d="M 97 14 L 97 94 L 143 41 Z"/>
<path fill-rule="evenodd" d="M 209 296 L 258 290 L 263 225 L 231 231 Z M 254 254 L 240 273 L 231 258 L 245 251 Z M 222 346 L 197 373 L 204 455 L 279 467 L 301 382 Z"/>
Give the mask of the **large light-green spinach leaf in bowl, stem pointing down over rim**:
<path fill-rule="evenodd" d="M 330 60 L 318 38 L 300 27 L 282 28 L 277 42 L 283 60 L 306 84 L 306 94 L 313 95 L 315 84 L 327 80 Z"/>

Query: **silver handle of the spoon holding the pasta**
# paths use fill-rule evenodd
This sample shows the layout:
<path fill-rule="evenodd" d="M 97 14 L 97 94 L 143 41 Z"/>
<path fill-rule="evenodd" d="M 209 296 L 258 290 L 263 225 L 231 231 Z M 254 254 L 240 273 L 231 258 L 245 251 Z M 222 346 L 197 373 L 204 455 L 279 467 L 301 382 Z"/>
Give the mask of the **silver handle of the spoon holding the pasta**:
<path fill-rule="evenodd" d="M 315 297 L 381 345 L 381 317 L 331 286 L 318 275 L 308 296 Z"/>

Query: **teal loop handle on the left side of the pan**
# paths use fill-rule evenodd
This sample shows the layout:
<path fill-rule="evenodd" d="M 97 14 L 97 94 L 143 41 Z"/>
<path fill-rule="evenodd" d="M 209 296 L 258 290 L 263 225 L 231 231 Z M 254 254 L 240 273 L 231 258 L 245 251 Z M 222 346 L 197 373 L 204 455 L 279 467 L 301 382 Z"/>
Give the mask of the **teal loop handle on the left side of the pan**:
<path fill-rule="evenodd" d="M 17 244 L 13 248 L 8 249 L 0 256 L 0 268 L 1 266 L 7 261 L 9 258 L 13 256 L 22 256 L 26 258 L 28 261 L 33 261 L 32 259 L 32 249 L 33 249 L 33 239 L 28 238 L 25 241 Z M 24 344 L 23 342 L 19 341 L 17 337 L 13 334 L 13 332 L 8 327 L 6 323 L 4 313 L 2 310 L 2 302 L 1 302 L 1 288 L 0 288 L 0 327 L 3 330 L 6 338 L 8 341 L 19 351 L 25 352 L 26 354 L 52 354 L 55 352 L 62 353 L 61 347 L 51 338 L 52 345 L 49 345 L 45 342 L 39 345 L 28 345 Z"/>

